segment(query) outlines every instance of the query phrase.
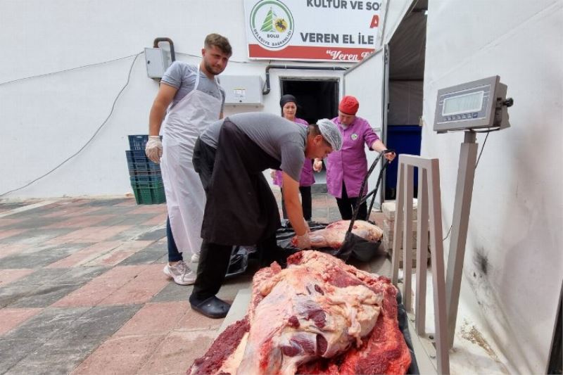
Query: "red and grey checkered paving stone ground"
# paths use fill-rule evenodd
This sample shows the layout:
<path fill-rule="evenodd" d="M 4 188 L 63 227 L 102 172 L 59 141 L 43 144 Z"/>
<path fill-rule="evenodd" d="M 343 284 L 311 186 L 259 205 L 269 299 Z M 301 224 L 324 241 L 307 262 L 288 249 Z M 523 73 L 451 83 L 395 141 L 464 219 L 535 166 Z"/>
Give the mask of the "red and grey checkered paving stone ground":
<path fill-rule="evenodd" d="M 339 220 L 334 198 L 313 194 L 312 219 Z M 222 319 L 192 311 L 192 287 L 163 274 L 165 220 L 165 204 L 133 198 L 0 203 L 0 374 L 185 374 Z"/>

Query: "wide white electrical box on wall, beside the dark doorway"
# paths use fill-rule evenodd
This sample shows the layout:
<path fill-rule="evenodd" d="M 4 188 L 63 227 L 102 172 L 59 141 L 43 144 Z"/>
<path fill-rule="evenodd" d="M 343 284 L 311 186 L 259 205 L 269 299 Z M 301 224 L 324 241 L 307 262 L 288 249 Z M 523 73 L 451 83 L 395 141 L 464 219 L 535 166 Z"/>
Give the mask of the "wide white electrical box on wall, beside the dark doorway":
<path fill-rule="evenodd" d="M 262 106 L 262 77 L 259 75 L 220 75 L 224 103 Z"/>

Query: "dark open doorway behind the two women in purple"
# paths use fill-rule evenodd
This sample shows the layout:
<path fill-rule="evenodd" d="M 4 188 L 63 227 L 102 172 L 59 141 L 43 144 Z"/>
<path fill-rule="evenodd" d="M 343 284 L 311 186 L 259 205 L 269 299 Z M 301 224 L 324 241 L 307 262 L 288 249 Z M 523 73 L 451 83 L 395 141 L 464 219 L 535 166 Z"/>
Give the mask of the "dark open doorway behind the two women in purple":
<path fill-rule="evenodd" d="M 279 80 L 281 95 L 291 94 L 297 99 L 296 117 L 310 124 L 321 118 L 332 119 L 338 115 L 339 78 L 284 77 Z M 281 110 L 280 110 L 281 113 Z M 315 173 L 312 193 L 327 192 L 327 169 Z"/>

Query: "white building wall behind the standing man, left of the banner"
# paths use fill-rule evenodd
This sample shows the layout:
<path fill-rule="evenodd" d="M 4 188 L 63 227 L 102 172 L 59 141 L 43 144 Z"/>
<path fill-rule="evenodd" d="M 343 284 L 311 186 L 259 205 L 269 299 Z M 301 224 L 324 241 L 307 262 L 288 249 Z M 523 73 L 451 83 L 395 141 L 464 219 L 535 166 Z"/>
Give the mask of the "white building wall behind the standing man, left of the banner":
<path fill-rule="evenodd" d="M 127 134 L 146 134 L 158 90 L 158 83 L 146 76 L 141 52 L 156 37 L 170 37 L 177 60 L 196 64 L 205 35 L 218 32 L 233 46 L 224 74 L 263 78 L 270 61 L 248 61 L 244 23 L 242 0 L 2 1 L 0 30 L 11 37 L 0 39 L 0 195 L 49 172 L 84 146 L 108 117 L 131 66 L 132 73 L 108 122 L 80 154 L 0 198 L 130 192 Z M 83 65 L 92 66 L 73 69 Z M 32 77 L 37 75 L 44 76 Z M 225 114 L 279 113 L 279 77 L 341 79 L 342 72 L 271 70 L 272 91 L 264 96 L 262 108 L 230 106 Z"/>

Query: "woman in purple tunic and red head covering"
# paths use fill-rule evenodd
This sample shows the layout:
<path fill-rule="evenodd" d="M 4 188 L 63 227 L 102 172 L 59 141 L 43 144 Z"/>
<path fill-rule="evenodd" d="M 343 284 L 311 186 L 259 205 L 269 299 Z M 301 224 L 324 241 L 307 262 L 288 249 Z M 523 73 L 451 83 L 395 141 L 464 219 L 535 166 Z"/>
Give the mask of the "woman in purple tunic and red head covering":
<path fill-rule="evenodd" d="M 342 220 L 351 220 L 362 182 L 367 175 L 367 159 L 364 144 L 370 150 L 379 153 L 387 151 L 379 136 L 367 120 L 356 116 L 360 108 L 358 99 L 354 96 L 344 96 L 339 104 L 339 115 L 332 121 L 339 128 L 342 135 L 342 148 L 331 153 L 327 160 L 327 190 L 336 198 Z M 386 153 L 385 158 L 390 162 L 395 153 Z M 319 172 L 322 160 L 315 159 L 313 169 Z M 367 191 L 367 189 L 366 189 Z M 367 204 L 360 205 L 359 220 L 367 220 Z"/>

